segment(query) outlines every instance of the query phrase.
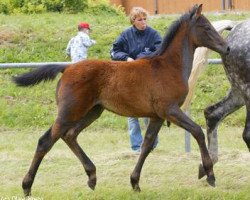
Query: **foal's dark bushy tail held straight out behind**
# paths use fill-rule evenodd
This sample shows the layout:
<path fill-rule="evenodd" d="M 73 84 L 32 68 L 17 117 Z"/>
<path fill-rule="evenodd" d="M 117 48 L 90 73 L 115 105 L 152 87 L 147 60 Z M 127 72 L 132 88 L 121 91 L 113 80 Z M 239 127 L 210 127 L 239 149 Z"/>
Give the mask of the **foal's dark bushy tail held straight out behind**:
<path fill-rule="evenodd" d="M 54 80 L 59 72 L 63 72 L 67 65 L 45 65 L 36 70 L 13 77 L 13 81 L 18 86 L 33 86 L 41 81 Z"/>

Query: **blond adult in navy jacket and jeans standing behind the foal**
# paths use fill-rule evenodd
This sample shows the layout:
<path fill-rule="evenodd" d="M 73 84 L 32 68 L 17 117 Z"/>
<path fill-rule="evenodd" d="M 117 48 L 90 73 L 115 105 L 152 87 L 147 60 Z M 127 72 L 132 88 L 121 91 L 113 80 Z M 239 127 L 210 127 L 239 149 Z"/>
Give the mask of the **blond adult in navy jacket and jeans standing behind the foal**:
<path fill-rule="evenodd" d="M 112 60 L 133 61 L 151 55 L 161 45 L 160 34 L 147 25 L 148 12 L 141 7 L 133 7 L 130 12 L 131 27 L 123 31 L 113 43 L 110 51 Z M 140 151 L 142 134 L 138 118 L 128 118 L 131 148 Z M 158 143 L 158 137 L 154 147 Z"/>

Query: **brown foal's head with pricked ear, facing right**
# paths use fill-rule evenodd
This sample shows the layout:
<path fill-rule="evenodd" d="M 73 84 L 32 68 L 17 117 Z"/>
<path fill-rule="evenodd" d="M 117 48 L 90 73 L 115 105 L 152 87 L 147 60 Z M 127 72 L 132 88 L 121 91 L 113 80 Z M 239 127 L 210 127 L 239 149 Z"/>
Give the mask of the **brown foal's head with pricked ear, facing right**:
<path fill-rule="evenodd" d="M 206 17 L 201 14 L 202 4 L 193 8 L 189 21 L 190 40 L 196 47 L 207 47 L 220 54 L 228 54 L 230 49 Z"/>

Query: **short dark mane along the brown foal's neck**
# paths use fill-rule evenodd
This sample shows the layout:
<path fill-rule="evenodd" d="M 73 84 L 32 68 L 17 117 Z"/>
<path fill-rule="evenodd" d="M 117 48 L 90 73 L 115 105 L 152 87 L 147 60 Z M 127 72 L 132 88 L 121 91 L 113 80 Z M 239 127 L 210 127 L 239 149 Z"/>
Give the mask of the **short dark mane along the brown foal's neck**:
<path fill-rule="evenodd" d="M 160 56 L 165 52 L 165 50 L 169 47 L 172 40 L 174 39 L 181 24 L 187 20 L 190 20 L 194 16 L 197 9 L 198 6 L 196 5 L 189 12 L 183 14 L 179 19 L 177 19 L 171 24 L 170 28 L 167 30 L 165 36 L 163 37 L 161 46 L 152 55 L 150 55 L 149 58 L 152 58 L 154 56 Z"/>

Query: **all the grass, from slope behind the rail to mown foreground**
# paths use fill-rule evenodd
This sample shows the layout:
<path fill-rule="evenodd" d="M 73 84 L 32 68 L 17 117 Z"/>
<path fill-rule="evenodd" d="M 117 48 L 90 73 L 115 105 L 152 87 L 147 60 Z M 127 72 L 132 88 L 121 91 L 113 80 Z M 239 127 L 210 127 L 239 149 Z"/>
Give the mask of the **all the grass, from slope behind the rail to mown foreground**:
<path fill-rule="evenodd" d="M 244 20 L 250 13 L 209 14 L 211 20 Z M 149 21 L 161 35 L 178 16 Z M 69 61 L 65 57 L 75 25 L 88 21 L 97 45 L 89 58 L 110 59 L 109 49 L 129 26 L 123 15 L 70 14 L 0 15 L 0 62 Z M 218 57 L 212 53 L 211 57 Z M 56 82 L 18 88 L 11 77 L 27 69 L 0 70 L 0 200 L 21 199 L 21 182 L 31 163 L 37 140 L 56 116 Z M 59 78 L 59 77 L 58 77 Z M 191 117 L 205 127 L 203 109 L 225 96 L 229 83 L 222 66 L 210 65 L 200 77 L 191 105 Z M 132 191 L 130 173 L 138 155 L 130 151 L 127 121 L 109 112 L 83 131 L 79 143 L 97 166 L 97 187 L 87 187 L 87 176 L 69 148 L 59 141 L 43 160 L 33 185 L 33 197 L 42 199 L 250 199 L 250 154 L 242 140 L 245 111 L 228 117 L 219 130 L 219 162 L 214 171 L 217 187 L 198 180 L 200 155 L 184 152 L 184 131 L 163 127 L 160 143 L 145 162 L 141 193 Z"/>

